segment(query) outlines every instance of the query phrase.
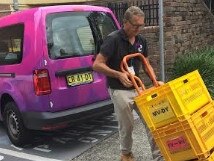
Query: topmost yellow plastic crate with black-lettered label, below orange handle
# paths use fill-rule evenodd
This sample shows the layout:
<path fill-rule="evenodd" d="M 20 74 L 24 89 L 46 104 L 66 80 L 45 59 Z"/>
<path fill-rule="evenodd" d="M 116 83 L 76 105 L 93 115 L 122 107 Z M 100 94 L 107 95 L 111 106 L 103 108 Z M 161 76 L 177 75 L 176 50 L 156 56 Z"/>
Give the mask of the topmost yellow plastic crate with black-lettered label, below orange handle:
<path fill-rule="evenodd" d="M 151 130 L 183 120 L 212 101 L 197 70 L 162 86 L 147 89 L 134 100 L 138 114 Z"/>

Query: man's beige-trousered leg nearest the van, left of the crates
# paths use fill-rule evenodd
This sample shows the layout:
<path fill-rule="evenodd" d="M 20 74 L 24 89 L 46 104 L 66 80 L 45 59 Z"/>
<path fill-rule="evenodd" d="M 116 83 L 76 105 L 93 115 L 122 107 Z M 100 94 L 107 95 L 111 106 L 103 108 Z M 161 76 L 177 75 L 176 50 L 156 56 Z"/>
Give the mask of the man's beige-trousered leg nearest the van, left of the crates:
<path fill-rule="evenodd" d="M 120 149 L 122 154 L 131 153 L 134 126 L 133 90 L 109 90 L 119 124 Z"/>

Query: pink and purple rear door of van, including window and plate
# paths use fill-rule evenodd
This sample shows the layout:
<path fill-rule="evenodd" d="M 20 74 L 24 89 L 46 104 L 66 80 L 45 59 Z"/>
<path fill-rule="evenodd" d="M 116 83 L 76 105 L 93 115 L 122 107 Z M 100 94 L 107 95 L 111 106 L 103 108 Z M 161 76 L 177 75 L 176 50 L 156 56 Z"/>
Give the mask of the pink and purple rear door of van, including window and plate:
<path fill-rule="evenodd" d="M 109 99 L 106 79 L 92 70 L 92 64 L 102 39 L 116 29 L 113 18 L 103 11 L 47 15 L 46 66 L 51 81 L 52 111 Z"/>

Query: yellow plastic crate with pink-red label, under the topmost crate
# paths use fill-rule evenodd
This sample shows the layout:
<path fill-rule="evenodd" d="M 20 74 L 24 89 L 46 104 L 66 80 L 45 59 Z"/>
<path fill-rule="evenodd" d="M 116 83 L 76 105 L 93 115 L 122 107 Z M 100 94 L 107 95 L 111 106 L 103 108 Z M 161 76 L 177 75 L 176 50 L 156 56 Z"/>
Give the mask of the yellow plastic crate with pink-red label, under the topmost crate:
<path fill-rule="evenodd" d="M 166 161 L 207 160 L 214 149 L 214 103 L 152 134 Z"/>

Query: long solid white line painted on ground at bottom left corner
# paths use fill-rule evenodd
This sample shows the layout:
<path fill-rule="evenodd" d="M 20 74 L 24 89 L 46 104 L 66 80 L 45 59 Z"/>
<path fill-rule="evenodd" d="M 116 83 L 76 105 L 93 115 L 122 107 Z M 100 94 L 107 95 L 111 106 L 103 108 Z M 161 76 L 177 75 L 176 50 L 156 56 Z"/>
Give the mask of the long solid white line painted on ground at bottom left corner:
<path fill-rule="evenodd" d="M 28 159 L 28 160 L 32 160 L 32 161 L 62 161 L 62 160 L 58 160 L 58 159 L 40 157 L 38 155 L 26 154 L 23 152 L 16 152 L 13 150 L 3 149 L 3 148 L 0 148 L 0 153 L 5 154 L 5 155 L 14 156 L 17 158 Z"/>

